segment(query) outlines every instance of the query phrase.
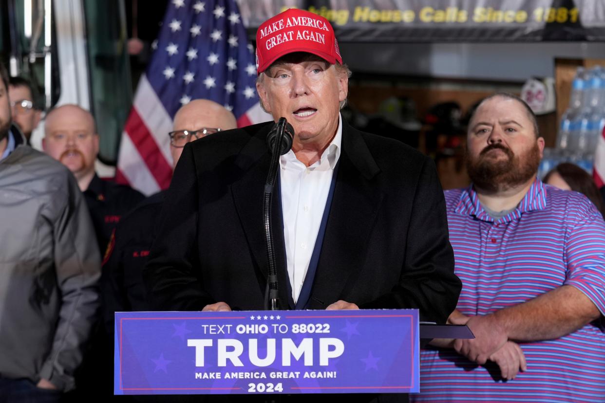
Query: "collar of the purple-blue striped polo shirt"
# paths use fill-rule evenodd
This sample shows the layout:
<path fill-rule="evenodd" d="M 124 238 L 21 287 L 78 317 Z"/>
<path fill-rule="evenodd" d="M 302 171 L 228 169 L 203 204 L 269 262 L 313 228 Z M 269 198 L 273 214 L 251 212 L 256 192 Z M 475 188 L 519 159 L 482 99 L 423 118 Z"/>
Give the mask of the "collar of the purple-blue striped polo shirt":
<path fill-rule="evenodd" d="M 525 194 L 523 199 L 517 205 L 515 210 L 512 210 L 510 213 L 506 214 L 506 216 L 498 219 L 498 222 L 509 222 L 514 219 L 521 218 L 522 213 L 526 213 L 528 211 L 533 210 L 543 210 L 546 208 L 546 187 L 540 181 L 540 179 L 535 178 L 534 183 L 532 183 L 531 187 L 529 187 L 528 192 Z M 489 216 L 488 213 L 485 212 L 481 202 L 479 202 L 479 197 L 477 196 L 477 192 L 471 184 L 468 188 L 464 189 L 462 193 L 460 193 L 460 199 L 456 208 L 454 209 L 456 213 L 462 215 L 475 216 L 476 218 L 482 221 L 494 222 L 494 219 Z"/>

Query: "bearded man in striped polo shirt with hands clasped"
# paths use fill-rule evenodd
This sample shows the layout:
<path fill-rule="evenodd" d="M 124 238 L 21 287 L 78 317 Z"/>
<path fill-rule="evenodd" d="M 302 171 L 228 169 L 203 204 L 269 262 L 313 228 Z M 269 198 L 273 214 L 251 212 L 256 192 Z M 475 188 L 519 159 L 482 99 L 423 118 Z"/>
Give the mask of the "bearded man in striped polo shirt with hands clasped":
<path fill-rule="evenodd" d="M 463 283 L 448 321 L 476 338 L 431 342 L 415 401 L 605 401 L 600 213 L 536 178 L 544 140 L 520 98 L 483 100 L 467 139 L 473 184 L 445 192 Z"/>

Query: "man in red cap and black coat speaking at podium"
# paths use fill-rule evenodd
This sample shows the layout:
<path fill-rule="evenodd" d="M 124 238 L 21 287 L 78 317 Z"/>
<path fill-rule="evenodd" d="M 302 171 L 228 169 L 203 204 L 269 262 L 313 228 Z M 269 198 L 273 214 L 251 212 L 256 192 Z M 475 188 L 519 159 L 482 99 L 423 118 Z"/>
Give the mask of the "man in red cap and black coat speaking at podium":
<path fill-rule="evenodd" d="M 287 10 L 257 32 L 263 108 L 295 135 L 280 157 L 273 234 L 281 309 L 456 306 L 443 192 L 432 161 L 342 120 L 350 71 L 330 23 Z M 156 308 L 263 309 L 263 193 L 273 122 L 189 143 L 145 277 Z M 404 398 L 402 396 L 402 398 Z"/>

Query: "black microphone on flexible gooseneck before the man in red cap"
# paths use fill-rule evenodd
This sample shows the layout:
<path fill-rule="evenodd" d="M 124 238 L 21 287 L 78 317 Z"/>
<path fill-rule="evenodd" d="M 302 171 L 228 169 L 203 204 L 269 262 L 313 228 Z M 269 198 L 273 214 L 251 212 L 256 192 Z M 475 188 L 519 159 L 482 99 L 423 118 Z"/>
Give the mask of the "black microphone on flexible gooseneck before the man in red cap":
<path fill-rule="evenodd" d="M 271 200 L 277 177 L 280 155 L 284 155 L 292 149 L 294 140 L 294 128 L 286 118 L 280 118 L 267 135 L 267 146 L 271 152 L 269 173 L 265 182 L 263 196 L 263 218 L 265 229 L 265 244 L 267 247 L 267 259 L 269 260 L 269 273 L 267 276 L 267 291 L 265 295 L 265 309 L 276 311 L 280 306 L 278 296 L 277 263 L 275 261 L 275 247 L 273 246 L 273 231 L 271 227 Z"/>

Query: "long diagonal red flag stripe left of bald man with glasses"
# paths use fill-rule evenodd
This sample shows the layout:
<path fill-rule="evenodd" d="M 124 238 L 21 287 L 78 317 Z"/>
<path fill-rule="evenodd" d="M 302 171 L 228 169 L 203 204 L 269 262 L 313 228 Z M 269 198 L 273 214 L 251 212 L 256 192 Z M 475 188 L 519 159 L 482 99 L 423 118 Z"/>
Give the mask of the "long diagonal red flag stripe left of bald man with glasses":
<path fill-rule="evenodd" d="M 160 185 L 160 188 L 167 189 L 172 179 L 172 166 L 168 164 L 168 161 L 162 155 L 136 108 L 131 109 L 124 131 L 128 133 L 132 144 L 139 151 L 147 168 Z"/>

